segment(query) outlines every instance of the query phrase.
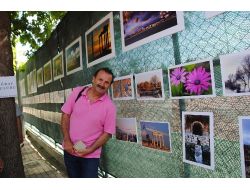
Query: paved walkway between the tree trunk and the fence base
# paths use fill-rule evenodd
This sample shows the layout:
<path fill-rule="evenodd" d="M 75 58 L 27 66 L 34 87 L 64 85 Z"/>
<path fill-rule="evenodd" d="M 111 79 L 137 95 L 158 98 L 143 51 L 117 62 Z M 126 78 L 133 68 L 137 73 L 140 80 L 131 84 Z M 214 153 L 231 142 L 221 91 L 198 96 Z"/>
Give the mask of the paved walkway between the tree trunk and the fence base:
<path fill-rule="evenodd" d="M 26 178 L 63 178 L 64 171 L 58 170 L 26 138 L 22 147 L 22 157 Z"/>

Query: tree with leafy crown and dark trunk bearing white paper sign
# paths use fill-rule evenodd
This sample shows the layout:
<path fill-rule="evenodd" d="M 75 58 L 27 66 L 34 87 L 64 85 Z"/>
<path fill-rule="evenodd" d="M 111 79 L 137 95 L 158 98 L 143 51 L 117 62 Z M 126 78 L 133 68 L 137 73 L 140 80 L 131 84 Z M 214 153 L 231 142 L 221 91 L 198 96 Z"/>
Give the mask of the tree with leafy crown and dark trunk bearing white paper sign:
<path fill-rule="evenodd" d="M 31 55 L 51 34 L 63 12 L 0 12 L 0 76 L 13 76 L 12 45 L 17 38 L 30 44 Z M 11 43 L 12 42 L 12 43 Z M 19 146 L 14 98 L 0 99 L 0 158 L 4 161 L 1 177 L 24 177 Z"/>

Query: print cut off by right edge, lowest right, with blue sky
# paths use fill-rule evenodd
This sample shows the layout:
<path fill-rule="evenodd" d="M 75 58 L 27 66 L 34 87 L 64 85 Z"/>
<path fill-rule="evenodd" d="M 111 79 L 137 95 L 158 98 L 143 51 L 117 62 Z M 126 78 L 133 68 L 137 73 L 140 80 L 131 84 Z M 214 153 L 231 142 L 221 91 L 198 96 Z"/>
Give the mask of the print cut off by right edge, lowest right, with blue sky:
<path fill-rule="evenodd" d="M 242 177 L 250 178 L 250 116 L 240 116 L 239 123 Z"/>

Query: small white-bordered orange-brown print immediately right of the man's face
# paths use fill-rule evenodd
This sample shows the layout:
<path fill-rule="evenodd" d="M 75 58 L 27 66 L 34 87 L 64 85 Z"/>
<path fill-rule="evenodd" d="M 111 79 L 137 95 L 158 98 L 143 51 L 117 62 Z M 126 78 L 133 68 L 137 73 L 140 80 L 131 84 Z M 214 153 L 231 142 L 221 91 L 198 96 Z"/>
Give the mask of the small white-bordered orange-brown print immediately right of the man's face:
<path fill-rule="evenodd" d="M 133 75 L 117 77 L 111 86 L 113 100 L 131 100 L 134 95 L 134 79 Z"/>

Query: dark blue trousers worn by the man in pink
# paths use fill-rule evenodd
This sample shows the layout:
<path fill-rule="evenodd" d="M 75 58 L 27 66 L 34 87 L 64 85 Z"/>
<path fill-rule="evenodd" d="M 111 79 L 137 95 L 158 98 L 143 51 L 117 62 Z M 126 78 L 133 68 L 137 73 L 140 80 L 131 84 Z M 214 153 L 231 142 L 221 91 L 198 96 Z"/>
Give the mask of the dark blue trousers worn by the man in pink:
<path fill-rule="evenodd" d="M 70 178 L 98 178 L 99 158 L 81 158 L 64 151 L 64 163 Z"/>

